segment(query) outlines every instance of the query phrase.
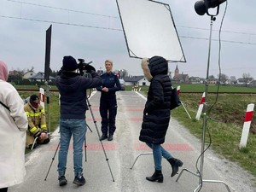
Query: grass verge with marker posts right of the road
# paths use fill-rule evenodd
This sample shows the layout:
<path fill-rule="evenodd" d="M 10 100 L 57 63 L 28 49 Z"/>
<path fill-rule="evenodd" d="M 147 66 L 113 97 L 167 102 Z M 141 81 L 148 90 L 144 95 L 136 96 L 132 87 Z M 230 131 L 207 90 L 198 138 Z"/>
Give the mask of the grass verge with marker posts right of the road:
<path fill-rule="evenodd" d="M 256 182 L 256 135 L 252 128 L 247 140 L 247 147 L 239 149 L 243 119 L 247 104 L 256 102 L 255 96 L 249 95 L 221 95 L 216 100 L 215 95 L 208 96 L 207 130 L 212 138 L 211 148 L 224 158 L 236 162 L 239 166 L 250 172 Z M 192 119 L 189 119 L 183 107 L 172 110 L 172 117 L 198 138 L 201 138 L 202 120 L 195 119 L 195 115 L 201 100 L 201 94 L 181 94 L 180 99 L 189 111 Z M 194 118 L 193 118 L 194 117 Z M 254 125 L 254 123 L 252 122 Z M 206 131 L 206 144 L 209 143 L 209 134 Z"/>

